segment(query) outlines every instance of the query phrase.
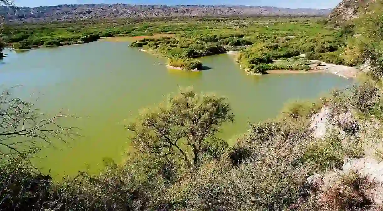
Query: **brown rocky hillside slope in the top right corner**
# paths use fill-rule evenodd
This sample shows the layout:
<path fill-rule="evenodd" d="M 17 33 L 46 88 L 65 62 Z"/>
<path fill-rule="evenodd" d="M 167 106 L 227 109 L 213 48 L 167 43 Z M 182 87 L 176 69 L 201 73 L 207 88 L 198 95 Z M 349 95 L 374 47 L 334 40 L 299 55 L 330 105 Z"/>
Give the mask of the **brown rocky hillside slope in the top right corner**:
<path fill-rule="evenodd" d="M 343 0 L 327 17 L 327 22 L 340 25 L 357 18 L 371 2 L 375 0 Z"/>

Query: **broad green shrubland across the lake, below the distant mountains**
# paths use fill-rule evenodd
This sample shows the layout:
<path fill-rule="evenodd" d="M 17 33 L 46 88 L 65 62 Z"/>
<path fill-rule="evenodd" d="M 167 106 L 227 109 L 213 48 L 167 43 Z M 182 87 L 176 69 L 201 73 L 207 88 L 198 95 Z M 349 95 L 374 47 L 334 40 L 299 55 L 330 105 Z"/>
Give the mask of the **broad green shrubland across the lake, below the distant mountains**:
<path fill-rule="evenodd" d="M 362 63 L 347 54 L 350 52 L 347 42 L 354 27 L 327 28 L 319 18 L 189 18 L 129 23 L 105 20 L 26 23 L 8 28 L 12 33 L 7 41 L 18 49 L 87 43 L 101 37 L 171 34 L 143 38 L 131 46 L 148 49 L 173 63 L 178 60 L 180 64 L 203 56 L 239 51 L 236 58 L 239 65 L 253 73 L 272 69 L 307 71 L 308 59 L 345 65 Z M 302 54 L 307 60 L 296 59 Z"/>

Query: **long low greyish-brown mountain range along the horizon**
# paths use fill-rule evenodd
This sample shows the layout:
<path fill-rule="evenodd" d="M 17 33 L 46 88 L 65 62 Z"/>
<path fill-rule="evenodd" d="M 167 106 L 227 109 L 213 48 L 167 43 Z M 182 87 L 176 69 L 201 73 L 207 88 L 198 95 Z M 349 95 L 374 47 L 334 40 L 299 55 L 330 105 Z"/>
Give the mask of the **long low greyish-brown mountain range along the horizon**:
<path fill-rule="evenodd" d="M 84 4 L 47 7 L 0 7 L 8 21 L 49 22 L 102 18 L 155 18 L 189 16 L 327 16 L 331 10 L 260 6 Z"/>

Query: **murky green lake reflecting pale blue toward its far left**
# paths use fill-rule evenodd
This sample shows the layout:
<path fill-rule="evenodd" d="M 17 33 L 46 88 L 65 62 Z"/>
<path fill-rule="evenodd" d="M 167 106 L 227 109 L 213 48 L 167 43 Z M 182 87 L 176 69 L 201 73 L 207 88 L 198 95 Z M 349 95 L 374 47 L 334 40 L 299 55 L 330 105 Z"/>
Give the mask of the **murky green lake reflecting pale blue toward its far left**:
<path fill-rule="evenodd" d="M 22 53 L 5 50 L 0 61 L 2 88 L 20 85 L 13 94 L 44 114 L 68 114 L 60 123 L 79 127 L 80 137 L 56 142 L 33 160 L 56 178 L 79 170 L 97 172 L 103 159 L 121 162 L 129 148 L 124 124 L 139 110 L 163 101 L 178 87 L 226 96 L 236 122 L 225 125 L 221 137 L 230 142 L 246 133 L 249 122 L 275 117 L 288 101 L 316 99 L 353 80 L 329 73 L 250 76 L 232 56 L 201 58 L 211 69 L 201 72 L 169 70 L 162 58 L 129 48 L 128 42 L 97 41 Z"/>

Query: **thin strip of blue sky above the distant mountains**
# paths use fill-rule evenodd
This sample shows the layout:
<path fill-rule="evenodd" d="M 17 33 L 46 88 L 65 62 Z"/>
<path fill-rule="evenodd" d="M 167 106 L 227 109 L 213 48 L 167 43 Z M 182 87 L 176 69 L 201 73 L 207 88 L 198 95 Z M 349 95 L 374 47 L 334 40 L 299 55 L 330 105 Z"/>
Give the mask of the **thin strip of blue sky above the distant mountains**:
<path fill-rule="evenodd" d="M 58 4 L 81 3 L 128 3 L 128 4 L 162 4 L 162 5 L 260 5 L 288 8 L 334 8 L 341 0 L 15 0 L 17 6 L 37 7 Z"/>

